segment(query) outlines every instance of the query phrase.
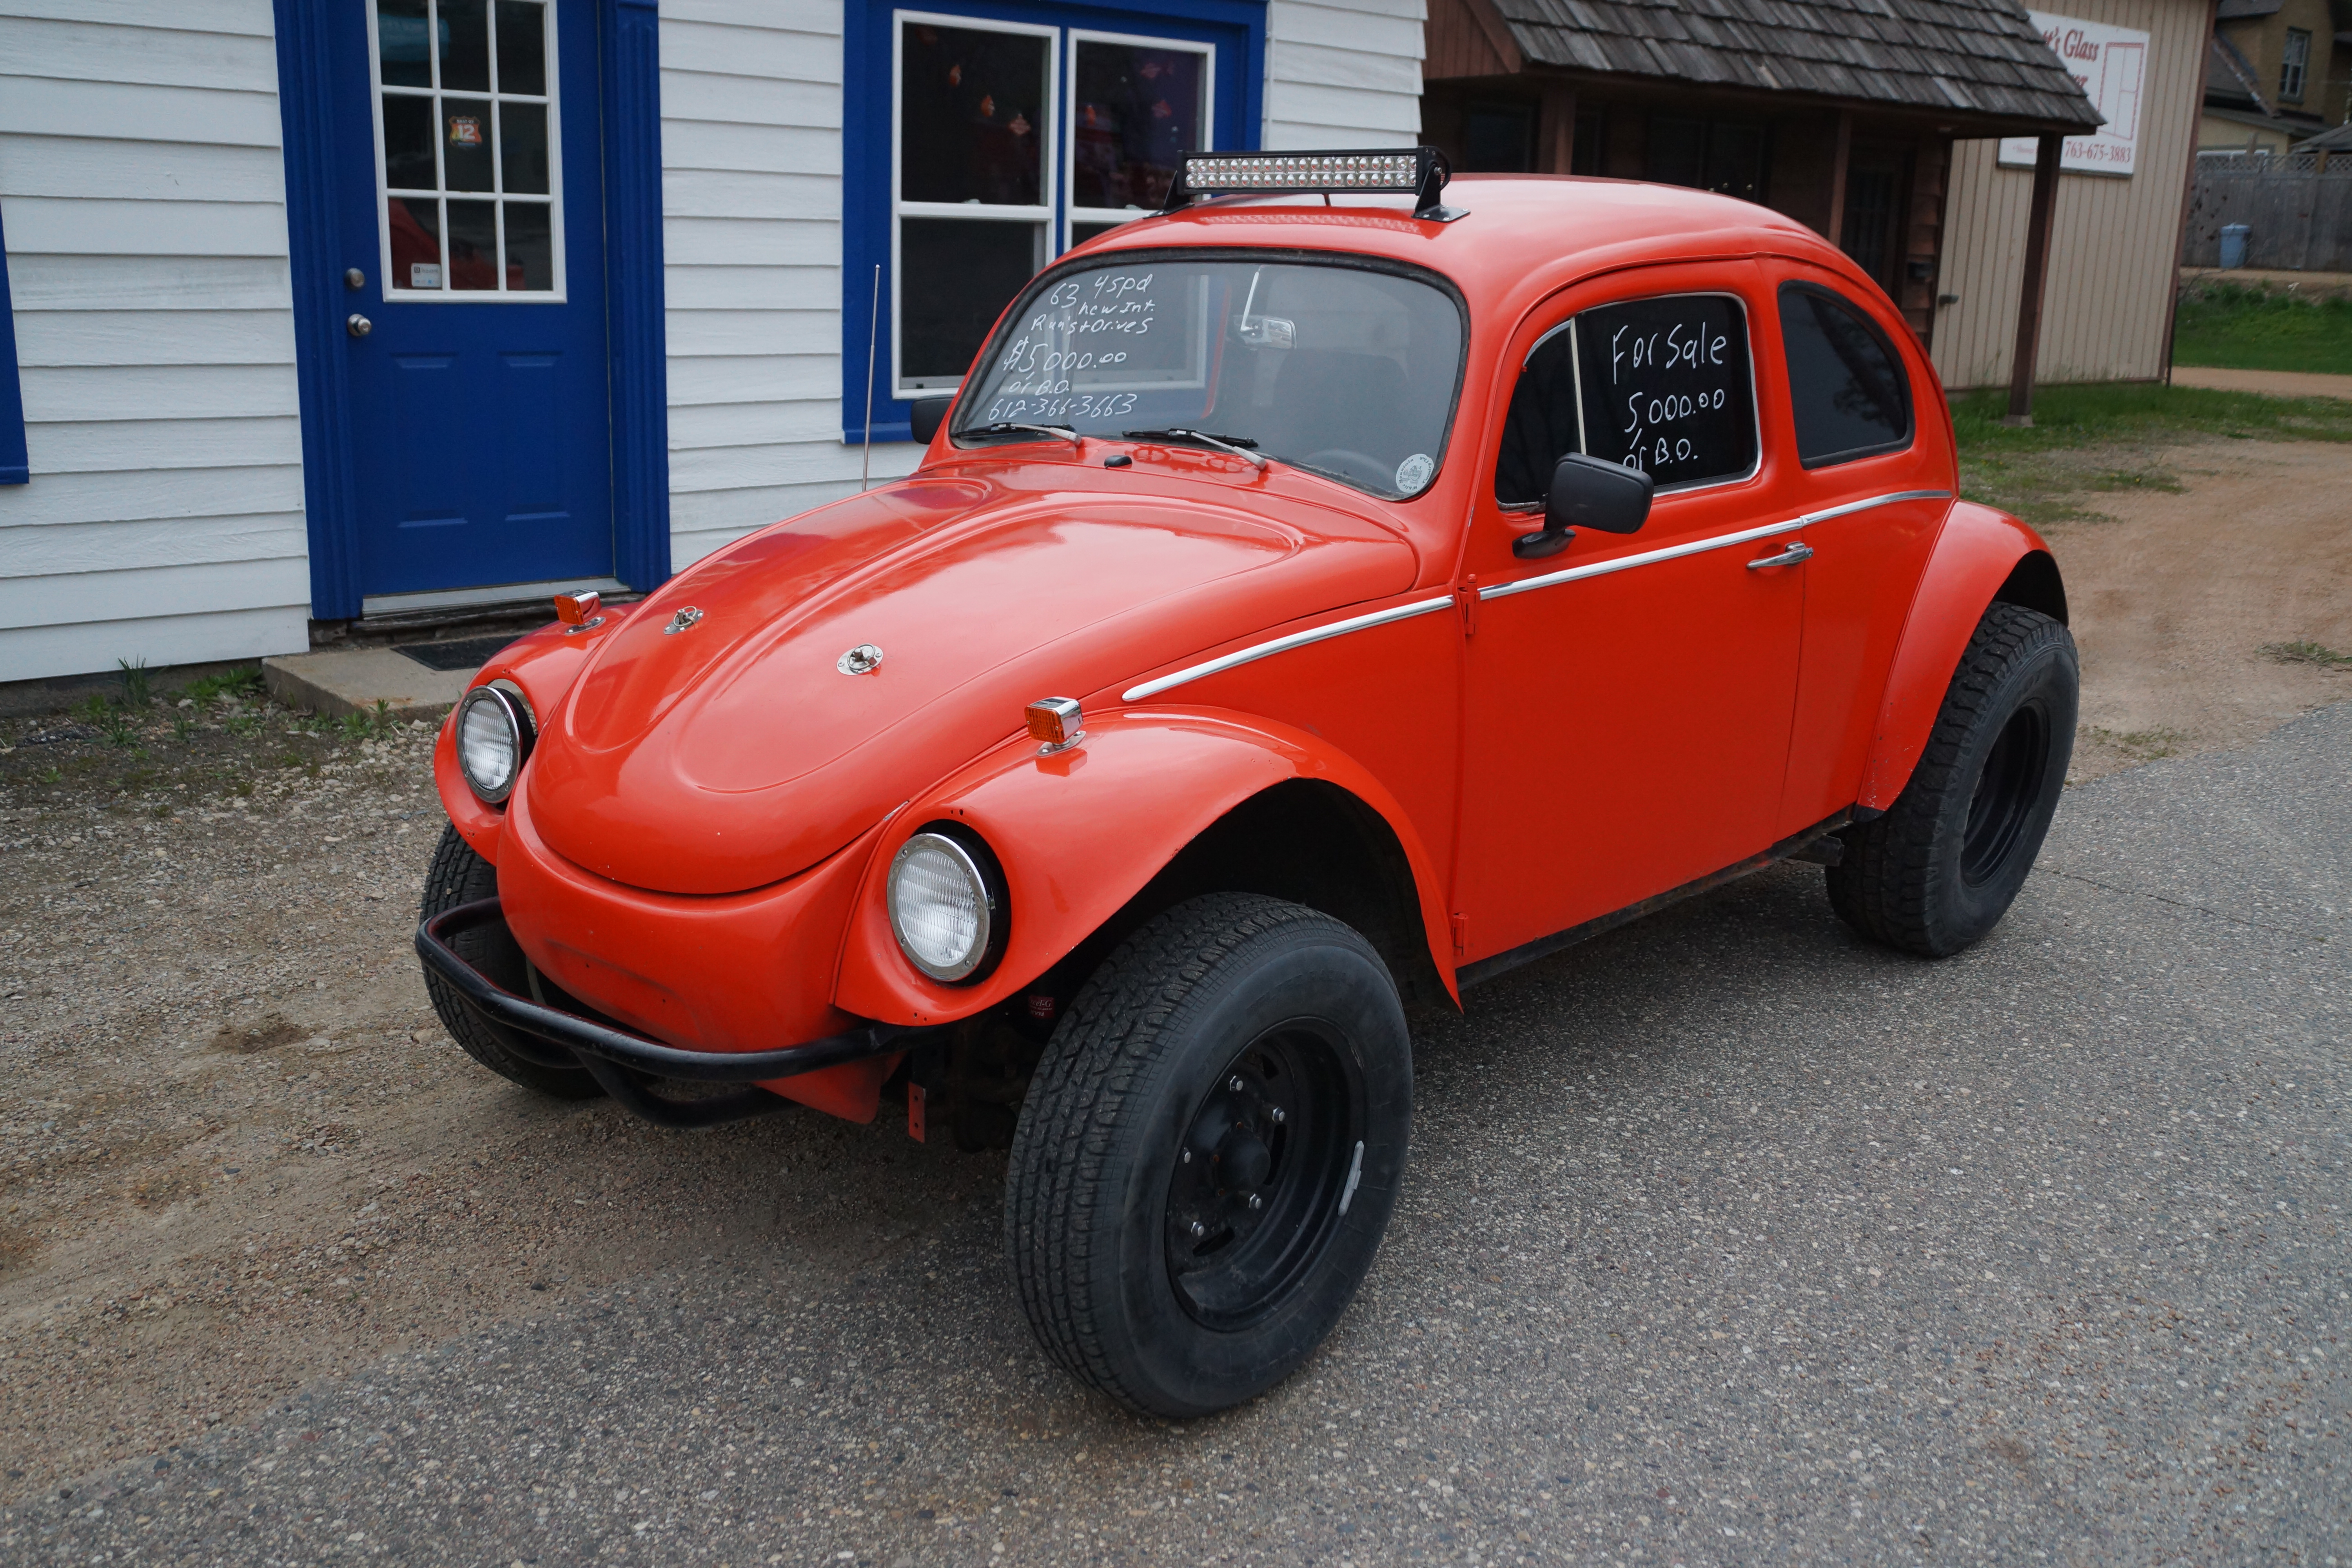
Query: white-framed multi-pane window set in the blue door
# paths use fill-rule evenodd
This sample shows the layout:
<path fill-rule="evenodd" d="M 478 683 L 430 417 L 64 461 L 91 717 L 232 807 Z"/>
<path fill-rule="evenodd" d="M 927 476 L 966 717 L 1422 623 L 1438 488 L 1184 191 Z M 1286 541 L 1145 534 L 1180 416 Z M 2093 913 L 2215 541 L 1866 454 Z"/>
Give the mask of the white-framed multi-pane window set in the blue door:
<path fill-rule="evenodd" d="M 386 299 L 562 299 L 555 7 L 372 9 Z"/>

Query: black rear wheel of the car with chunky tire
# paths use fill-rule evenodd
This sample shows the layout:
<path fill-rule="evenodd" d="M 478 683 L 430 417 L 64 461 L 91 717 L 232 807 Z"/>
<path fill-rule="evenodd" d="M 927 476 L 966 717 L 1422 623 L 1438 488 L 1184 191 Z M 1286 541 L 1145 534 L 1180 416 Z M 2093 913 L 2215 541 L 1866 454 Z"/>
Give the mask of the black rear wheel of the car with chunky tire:
<path fill-rule="evenodd" d="M 1992 931 L 2058 811 L 2079 684 L 2074 637 L 2060 623 L 2018 604 L 1987 609 L 1903 795 L 1839 835 L 1837 914 L 1931 959 Z"/>

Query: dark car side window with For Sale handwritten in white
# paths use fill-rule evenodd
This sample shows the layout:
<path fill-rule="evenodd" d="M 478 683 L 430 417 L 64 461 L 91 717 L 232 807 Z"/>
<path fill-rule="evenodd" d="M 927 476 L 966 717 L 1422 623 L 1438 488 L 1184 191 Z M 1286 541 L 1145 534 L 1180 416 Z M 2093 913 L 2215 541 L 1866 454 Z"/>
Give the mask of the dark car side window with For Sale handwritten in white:
<path fill-rule="evenodd" d="M 1757 465 L 1748 313 L 1729 294 L 1665 294 L 1576 317 L 1585 451 L 1658 489 L 1738 480 Z"/>

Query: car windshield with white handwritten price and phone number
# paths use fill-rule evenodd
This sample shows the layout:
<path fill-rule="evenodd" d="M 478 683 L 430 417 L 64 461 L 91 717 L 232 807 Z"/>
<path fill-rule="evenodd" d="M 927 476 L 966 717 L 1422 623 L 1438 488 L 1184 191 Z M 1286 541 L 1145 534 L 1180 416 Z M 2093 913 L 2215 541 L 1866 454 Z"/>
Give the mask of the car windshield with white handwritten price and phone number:
<path fill-rule="evenodd" d="M 1444 454 L 1461 353 L 1461 310 L 1418 277 L 1127 259 L 1061 273 L 1021 301 L 960 400 L 955 437 L 1148 433 L 1418 496 Z"/>

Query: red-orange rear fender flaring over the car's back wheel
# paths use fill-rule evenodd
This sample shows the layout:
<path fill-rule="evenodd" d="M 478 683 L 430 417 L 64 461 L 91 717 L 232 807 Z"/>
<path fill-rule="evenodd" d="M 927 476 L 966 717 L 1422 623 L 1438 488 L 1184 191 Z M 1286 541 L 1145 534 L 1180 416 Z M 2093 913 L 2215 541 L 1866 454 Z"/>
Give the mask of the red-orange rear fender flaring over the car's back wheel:
<path fill-rule="evenodd" d="M 2058 567 L 2042 536 L 2009 512 L 1973 501 L 1957 503 L 1936 536 L 1886 672 L 1860 806 L 1884 811 L 1903 795 L 1976 623 L 1994 599 L 2018 597 L 2002 592 L 2011 583 L 2025 585 L 2023 604 L 2065 621 Z"/>

